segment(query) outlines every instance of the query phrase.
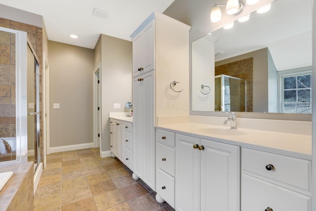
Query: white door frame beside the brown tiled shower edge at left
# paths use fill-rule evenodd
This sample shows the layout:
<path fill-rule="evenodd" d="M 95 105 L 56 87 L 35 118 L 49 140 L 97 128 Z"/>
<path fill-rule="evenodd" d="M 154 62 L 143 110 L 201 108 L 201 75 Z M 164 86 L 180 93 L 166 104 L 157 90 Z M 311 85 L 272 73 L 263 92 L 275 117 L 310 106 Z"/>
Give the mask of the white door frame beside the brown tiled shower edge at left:
<path fill-rule="evenodd" d="M 50 154 L 50 130 L 49 130 L 49 65 L 46 53 L 43 52 L 43 150 L 44 168 L 46 167 L 46 154 Z"/>

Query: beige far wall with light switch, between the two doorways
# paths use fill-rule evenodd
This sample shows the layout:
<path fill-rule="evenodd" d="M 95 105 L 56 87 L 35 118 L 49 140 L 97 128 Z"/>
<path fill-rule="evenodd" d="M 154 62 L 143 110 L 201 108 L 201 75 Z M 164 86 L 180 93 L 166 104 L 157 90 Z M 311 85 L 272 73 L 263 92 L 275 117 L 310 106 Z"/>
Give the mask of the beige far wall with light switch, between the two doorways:
<path fill-rule="evenodd" d="M 50 147 L 91 143 L 94 50 L 52 41 L 48 50 Z"/>

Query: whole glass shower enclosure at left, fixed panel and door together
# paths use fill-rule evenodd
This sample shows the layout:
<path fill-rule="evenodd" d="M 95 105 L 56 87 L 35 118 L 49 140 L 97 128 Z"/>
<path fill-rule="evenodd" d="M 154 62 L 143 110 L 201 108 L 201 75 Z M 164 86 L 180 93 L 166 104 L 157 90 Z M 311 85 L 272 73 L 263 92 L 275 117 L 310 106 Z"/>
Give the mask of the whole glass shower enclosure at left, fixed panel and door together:
<path fill-rule="evenodd" d="M 40 163 L 39 60 L 27 33 L 0 27 L 0 165 Z"/>

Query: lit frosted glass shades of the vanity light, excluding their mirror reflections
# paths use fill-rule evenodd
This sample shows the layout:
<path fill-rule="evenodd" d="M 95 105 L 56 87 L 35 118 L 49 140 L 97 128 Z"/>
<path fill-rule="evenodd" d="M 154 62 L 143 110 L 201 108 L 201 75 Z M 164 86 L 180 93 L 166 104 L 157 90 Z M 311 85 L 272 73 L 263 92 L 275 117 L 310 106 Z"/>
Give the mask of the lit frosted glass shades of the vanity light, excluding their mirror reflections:
<path fill-rule="evenodd" d="M 259 0 L 247 0 L 248 5 L 257 3 Z M 242 0 L 227 0 L 226 4 L 214 3 L 211 9 L 211 22 L 216 23 L 222 19 L 221 6 L 226 6 L 226 13 L 228 15 L 238 15 L 244 8 L 245 3 Z"/>

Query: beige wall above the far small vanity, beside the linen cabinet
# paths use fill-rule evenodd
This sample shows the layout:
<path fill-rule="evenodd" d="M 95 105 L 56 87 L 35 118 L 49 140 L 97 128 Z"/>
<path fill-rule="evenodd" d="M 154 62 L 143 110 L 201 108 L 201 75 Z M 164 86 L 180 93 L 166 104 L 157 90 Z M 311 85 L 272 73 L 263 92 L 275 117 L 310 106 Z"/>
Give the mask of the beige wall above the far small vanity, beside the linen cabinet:
<path fill-rule="evenodd" d="M 109 112 L 125 112 L 125 103 L 132 101 L 132 42 L 101 35 L 101 48 L 101 151 L 110 151 Z"/>

